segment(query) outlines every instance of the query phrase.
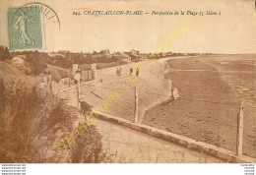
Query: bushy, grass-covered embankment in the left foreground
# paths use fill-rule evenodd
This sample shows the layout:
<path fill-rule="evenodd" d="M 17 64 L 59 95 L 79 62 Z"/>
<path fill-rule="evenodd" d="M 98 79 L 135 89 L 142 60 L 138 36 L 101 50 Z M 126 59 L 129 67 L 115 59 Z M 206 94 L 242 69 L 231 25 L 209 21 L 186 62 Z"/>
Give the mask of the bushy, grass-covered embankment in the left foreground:
<path fill-rule="evenodd" d="M 65 134 L 75 133 L 79 111 L 47 88 L 42 90 L 41 77 L 28 75 L 28 67 L 8 62 L 0 62 L 0 162 L 101 161 L 100 135 L 94 126 L 84 135 L 74 135 L 66 152 L 58 149 Z"/>

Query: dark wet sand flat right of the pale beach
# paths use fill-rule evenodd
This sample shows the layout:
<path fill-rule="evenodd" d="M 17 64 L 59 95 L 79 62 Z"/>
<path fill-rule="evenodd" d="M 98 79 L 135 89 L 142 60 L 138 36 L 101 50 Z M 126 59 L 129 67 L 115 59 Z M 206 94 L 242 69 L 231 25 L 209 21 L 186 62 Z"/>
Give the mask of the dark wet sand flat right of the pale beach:
<path fill-rule="evenodd" d="M 147 111 L 144 124 L 235 151 L 236 116 L 239 102 L 245 100 L 243 153 L 255 157 L 256 69 L 248 61 L 253 58 L 233 57 L 168 61 L 171 69 L 179 71 L 170 71 L 165 78 L 178 88 L 180 98 Z M 247 66 L 241 64 L 244 60 Z M 222 61 L 229 64 L 221 64 Z"/>

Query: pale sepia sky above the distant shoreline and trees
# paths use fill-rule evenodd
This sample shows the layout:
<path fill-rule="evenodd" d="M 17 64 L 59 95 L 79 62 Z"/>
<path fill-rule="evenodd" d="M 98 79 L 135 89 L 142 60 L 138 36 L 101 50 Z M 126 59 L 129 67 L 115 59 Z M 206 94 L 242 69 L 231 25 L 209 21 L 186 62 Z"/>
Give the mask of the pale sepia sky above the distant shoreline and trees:
<path fill-rule="evenodd" d="M 36 1 L 36 0 L 35 0 Z M 8 45 L 7 11 L 31 2 L 1 0 L 0 44 Z M 34 2 L 34 0 L 33 0 Z M 154 52 L 182 23 L 196 16 L 74 16 L 73 12 L 100 11 L 216 11 L 221 16 L 200 16 L 171 45 L 170 52 L 256 53 L 256 10 L 254 0 L 43 0 L 59 17 L 56 24 L 44 20 L 44 51 L 93 52 L 102 49 Z"/>

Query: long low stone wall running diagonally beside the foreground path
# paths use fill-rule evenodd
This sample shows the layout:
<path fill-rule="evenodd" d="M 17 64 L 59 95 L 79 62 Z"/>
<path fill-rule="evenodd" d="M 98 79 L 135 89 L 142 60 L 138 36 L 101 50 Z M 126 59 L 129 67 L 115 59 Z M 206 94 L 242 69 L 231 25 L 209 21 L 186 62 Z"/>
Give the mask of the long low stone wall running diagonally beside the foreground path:
<path fill-rule="evenodd" d="M 211 156 L 215 156 L 217 158 L 220 158 L 228 163 L 255 163 L 256 159 L 246 156 L 246 155 L 240 155 L 237 156 L 235 152 L 232 152 L 230 150 L 224 149 L 222 147 L 209 145 L 202 142 L 197 142 L 195 140 L 192 140 L 190 138 L 186 138 L 177 134 L 173 134 L 164 130 L 160 130 L 155 127 L 147 126 L 144 124 L 137 124 L 133 123 L 129 120 L 125 120 L 120 117 L 112 116 L 109 114 L 104 114 L 97 112 L 96 110 L 93 110 L 97 116 L 100 119 L 107 120 L 112 123 L 116 123 L 128 128 L 131 128 L 133 130 L 137 130 L 139 132 L 145 133 L 147 135 L 159 138 L 163 141 L 167 141 L 179 146 L 184 146 L 192 150 L 196 150 L 199 152 L 203 152 L 206 154 L 209 154 Z"/>

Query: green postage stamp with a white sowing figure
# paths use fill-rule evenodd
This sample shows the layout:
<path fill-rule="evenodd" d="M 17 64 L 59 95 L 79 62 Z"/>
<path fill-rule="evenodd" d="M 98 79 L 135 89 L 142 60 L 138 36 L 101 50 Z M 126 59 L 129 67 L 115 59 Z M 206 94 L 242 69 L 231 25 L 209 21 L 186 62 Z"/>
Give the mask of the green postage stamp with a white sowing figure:
<path fill-rule="evenodd" d="M 11 51 L 41 49 L 42 31 L 40 10 L 36 7 L 9 8 L 8 36 Z"/>

